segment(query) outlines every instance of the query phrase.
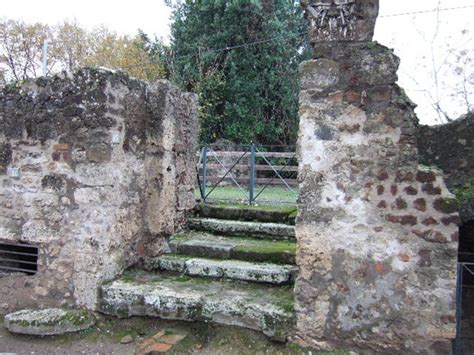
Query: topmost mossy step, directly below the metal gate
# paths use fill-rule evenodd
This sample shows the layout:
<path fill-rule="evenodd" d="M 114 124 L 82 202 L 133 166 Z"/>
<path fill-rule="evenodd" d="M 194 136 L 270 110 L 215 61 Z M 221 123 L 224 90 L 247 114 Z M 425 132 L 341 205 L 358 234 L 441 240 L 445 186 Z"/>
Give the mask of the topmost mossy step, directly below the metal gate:
<path fill-rule="evenodd" d="M 258 221 L 295 224 L 295 206 L 248 206 L 226 204 L 200 204 L 198 214 L 203 218 L 240 221 Z"/>

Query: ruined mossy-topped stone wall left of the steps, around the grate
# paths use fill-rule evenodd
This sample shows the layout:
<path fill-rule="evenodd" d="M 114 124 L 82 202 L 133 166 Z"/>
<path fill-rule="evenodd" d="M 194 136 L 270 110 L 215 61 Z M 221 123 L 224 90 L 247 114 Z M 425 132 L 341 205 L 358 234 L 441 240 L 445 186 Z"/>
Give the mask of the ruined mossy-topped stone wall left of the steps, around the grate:
<path fill-rule="evenodd" d="M 0 313 L 94 309 L 103 281 L 160 252 L 194 203 L 195 107 L 166 81 L 106 70 L 3 88 L 0 243 L 40 257 L 34 276 L 0 275 Z"/>

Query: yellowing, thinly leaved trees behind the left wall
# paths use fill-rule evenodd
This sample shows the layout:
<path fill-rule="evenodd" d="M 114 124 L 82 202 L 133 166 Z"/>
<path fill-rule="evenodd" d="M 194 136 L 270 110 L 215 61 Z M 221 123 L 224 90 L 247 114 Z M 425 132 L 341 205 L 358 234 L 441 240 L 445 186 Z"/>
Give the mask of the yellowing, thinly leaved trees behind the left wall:
<path fill-rule="evenodd" d="M 105 27 L 86 30 L 77 22 L 57 26 L 0 21 L 0 81 L 42 75 L 43 43 L 48 40 L 48 72 L 75 72 L 82 67 L 122 69 L 143 80 L 165 76 L 164 66 L 150 63 L 145 36 L 118 35 Z M 143 63 L 148 63 L 143 65 Z"/>

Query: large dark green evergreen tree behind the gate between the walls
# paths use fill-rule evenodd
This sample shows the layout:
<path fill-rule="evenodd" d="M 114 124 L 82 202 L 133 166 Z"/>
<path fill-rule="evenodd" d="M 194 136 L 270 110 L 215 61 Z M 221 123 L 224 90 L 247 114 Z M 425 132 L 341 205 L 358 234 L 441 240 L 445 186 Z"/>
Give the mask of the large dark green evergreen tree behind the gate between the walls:
<path fill-rule="evenodd" d="M 294 144 L 298 64 L 309 52 L 299 4 L 183 0 L 173 20 L 168 69 L 199 95 L 201 143 Z"/>

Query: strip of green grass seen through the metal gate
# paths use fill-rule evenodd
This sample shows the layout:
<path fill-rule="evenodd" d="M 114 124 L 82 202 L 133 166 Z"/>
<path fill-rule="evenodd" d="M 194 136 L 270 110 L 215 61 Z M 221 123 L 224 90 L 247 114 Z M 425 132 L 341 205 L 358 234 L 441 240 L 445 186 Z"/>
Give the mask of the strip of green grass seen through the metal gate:
<path fill-rule="evenodd" d="M 255 194 L 258 195 L 262 191 L 262 187 L 257 187 Z M 285 187 L 280 186 L 269 186 L 258 195 L 255 203 L 256 204 L 290 204 L 296 205 L 296 199 L 298 198 L 298 190 L 296 187 L 292 187 L 294 192 L 289 191 Z M 206 189 L 208 194 L 212 188 Z M 201 194 L 197 187 L 194 191 L 196 200 L 201 200 Z M 207 197 L 207 201 L 225 201 L 230 203 L 247 203 L 248 202 L 248 191 L 240 190 L 235 186 L 219 186 L 216 187 Z"/>

